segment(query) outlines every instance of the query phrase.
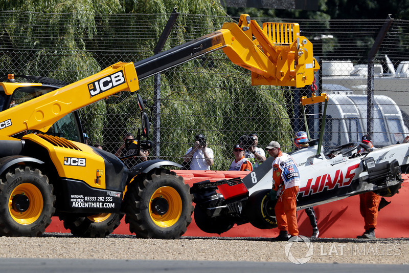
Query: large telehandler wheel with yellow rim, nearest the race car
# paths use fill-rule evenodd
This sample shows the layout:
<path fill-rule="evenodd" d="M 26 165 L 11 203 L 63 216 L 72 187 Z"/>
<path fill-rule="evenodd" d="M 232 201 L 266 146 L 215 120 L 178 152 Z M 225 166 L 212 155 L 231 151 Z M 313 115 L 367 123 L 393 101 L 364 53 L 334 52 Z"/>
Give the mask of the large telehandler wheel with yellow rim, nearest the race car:
<path fill-rule="evenodd" d="M 192 222 L 193 195 L 183 177 L 157 169 L 128 185 L 125 222 L 140 238 L 178 239 Z"/>

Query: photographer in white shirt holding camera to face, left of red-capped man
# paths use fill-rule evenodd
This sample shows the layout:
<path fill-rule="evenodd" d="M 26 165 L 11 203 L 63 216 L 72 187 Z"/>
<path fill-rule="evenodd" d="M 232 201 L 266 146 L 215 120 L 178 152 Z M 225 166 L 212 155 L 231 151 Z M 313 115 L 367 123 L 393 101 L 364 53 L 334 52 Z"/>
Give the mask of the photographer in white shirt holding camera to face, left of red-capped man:
<path fill-rule="evenodd" d="M 213 150 L 207 147 L 203 134 L 195 136 L 195 143 L 183 156 L 183 164 L 188 170 L 210 170 L 213 165 Z"/>

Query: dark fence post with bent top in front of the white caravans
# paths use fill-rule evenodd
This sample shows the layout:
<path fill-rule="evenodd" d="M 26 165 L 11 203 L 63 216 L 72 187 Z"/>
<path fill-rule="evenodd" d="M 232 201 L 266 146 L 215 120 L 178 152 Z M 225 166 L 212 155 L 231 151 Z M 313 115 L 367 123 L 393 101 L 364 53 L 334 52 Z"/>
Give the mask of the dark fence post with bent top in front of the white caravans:
<path fill-rule="evenodd" d="M 386 36 L 387 31 L 392 24 L 392 21 L 393 19 L 391 18 L 391 14 L 389 14 L 382 28 L 379 30 L 378 36 L 376 37 L 371 51 L 368 54 L 367 133 L 371 134 L 372 138 L 374 130 L 374 59 L 380 45 L 382 44 L 383 38 Z"/>

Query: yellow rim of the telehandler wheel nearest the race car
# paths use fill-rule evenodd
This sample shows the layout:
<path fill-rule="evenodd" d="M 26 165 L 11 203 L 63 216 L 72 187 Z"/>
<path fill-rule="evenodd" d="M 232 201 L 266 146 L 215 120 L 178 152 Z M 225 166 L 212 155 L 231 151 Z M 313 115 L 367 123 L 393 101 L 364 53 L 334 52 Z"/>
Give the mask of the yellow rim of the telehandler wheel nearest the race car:
<path fill-rule="evenodd" d="M 166 207 L 166 203 L 168 207 Z M 170 186 L 158 188 L 149 202 L 150 217 L 160 227 L 172 226 L 182 213 L 182 200 L 179 193 Z"/>

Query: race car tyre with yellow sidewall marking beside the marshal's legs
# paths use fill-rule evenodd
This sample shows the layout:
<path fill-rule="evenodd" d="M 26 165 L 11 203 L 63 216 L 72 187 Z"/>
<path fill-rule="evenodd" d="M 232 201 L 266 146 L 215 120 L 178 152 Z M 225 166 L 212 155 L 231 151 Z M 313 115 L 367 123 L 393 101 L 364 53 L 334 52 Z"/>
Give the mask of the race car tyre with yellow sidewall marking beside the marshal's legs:
<path fill-rule="evenodd" d="M 271 201 L 267 196 L 270 190 L 261 190 L 253 193 L 247 201 L 245 208 L 250 223 L 260 229 L 277 227 L 274 207 L 277 201 Z"/>

